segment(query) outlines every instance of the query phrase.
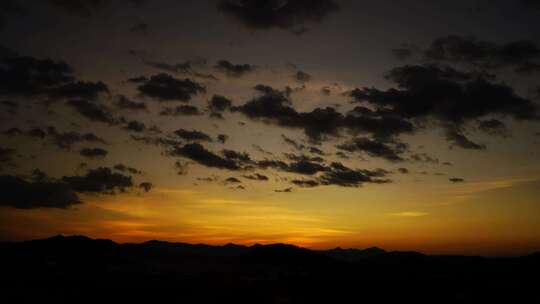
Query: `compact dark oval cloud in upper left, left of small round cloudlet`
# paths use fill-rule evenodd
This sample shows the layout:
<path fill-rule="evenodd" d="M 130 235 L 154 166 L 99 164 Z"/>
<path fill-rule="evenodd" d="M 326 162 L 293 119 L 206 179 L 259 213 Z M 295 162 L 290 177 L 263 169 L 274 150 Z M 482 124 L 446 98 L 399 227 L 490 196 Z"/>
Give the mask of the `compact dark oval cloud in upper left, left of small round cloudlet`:
<path fill-rule="evenodd" d="M 140 83 L 139 92 L 159 101 L 188 102 L 194 95 L 205 93 L 206 88 L 190 79 L 180 80 L 169 74 L 157 74 L 150 79 L 138 77 L 130 79 L 131 82 Z"/>

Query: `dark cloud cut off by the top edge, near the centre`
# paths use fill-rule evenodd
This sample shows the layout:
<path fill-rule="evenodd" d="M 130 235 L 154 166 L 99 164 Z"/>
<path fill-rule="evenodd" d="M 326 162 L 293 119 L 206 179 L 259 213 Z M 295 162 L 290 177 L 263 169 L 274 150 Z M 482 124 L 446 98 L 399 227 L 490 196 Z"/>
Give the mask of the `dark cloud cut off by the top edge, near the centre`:
<path fill-rule="evenodd" d="M 220 0 L 218 10 L 249 29 L 280 28 L 301 34 L 307 24 L 321 22 L 339 9 L 333 0 Z"/>

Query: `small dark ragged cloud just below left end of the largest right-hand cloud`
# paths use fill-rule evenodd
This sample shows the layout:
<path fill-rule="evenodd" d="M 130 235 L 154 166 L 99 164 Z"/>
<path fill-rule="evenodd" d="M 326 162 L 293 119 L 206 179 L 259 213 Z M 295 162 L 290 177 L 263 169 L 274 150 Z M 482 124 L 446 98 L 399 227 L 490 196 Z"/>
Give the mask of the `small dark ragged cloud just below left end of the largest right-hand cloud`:
<path fill-rule="evenodd" d="M 355 138 L 337 147 L 347 152 L 364 152 L 371 157 L 380 157 L 392 162 L 403 161 L 402 154 L 407 151 L 407 145 L 404 143 L 369 138 Z"/>

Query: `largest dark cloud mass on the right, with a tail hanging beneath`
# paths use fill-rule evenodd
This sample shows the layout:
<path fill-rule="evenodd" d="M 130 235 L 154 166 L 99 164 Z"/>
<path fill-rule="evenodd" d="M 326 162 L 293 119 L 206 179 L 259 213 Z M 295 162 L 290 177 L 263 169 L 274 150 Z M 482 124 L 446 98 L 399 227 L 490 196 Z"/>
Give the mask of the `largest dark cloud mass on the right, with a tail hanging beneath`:
<path fill-rule="evenodd" d="M 466 123 L 487 116 L 507 116 L 517 120 L 538 119 L 537 106 L 516 95 L 511 87 L 494 83 L 484 75 L 461 72 L 451 67 L 404 66 L 391 70 L 386 78 L 398 89 L 353 90 L 355 102 L 367 103 L 408 120 L 439 122 L 447 129 L 453 145 L 483 149 L 464 135 Z M 387 114 L 388 115 L 388 114 Z"/>

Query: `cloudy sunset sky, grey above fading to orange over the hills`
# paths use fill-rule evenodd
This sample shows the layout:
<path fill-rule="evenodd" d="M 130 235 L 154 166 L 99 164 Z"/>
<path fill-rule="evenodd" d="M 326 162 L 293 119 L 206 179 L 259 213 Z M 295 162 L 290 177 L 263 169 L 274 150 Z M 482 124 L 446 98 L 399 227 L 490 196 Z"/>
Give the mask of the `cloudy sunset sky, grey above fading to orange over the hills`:
<path fill-rule="evenodd" d="M 8 0 L 0 240 L 540 250 L 540 3 Z"/>

